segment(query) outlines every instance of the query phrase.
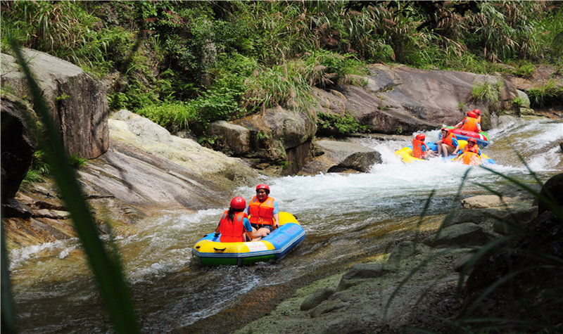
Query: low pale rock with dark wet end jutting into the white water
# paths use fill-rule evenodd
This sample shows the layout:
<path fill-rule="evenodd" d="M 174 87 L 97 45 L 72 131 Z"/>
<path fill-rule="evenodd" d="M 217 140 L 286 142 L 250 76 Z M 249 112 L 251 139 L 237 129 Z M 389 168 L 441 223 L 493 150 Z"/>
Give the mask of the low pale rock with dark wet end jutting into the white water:
<path fill-rule="evenodd" d="M 368 172 L 369 168 L 381 163 L 381 154 L 372 148 L 346 141 L 322 140 L 315 142 L 315 148 L 322 151 L 307 162 L 300 174 L 313 175 L 331 172 Z"/>

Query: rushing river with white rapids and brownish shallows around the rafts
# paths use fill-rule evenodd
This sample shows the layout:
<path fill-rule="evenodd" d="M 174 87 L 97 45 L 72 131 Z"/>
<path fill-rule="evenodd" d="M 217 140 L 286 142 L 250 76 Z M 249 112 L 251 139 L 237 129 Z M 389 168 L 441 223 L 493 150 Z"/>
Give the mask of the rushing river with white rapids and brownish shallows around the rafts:
<path fill-rule="evenodd" d="M 438 131 L 424 132 L 436 141 Z M 533 184 L 563 170 L 563 123 L 548 119 L 510 120 L 488 131 L 483 152 L 497 162 L 491 169 Z M 307 233 L 286 258 L 253 266 L 208 268 L 191 259 L 191 246 L 215 228 L 226 207 L 198 212 L 163 212 L 139 223 L 139 230 L 116 242 L 144 333 L 189 328 L 236 307 L 256 287 L 300 284 L 343 271 L 413 236 L 433 217 L 460 207 L 462 197 L 502 188 L 507 181 L 491 171 L 439 159 L 404 165 L 394 151 L 410 136 L 354 139 L 378 150 L 383 163 L 362 174 L 322 174 L 263 179 L 280 210 L 296 215 Z M 526 167 L 516 154 L 519 153 Z M 480 185 L 481 184 L 481 185 Z M 255 185 L 233 195 L 249 200 Z M 429 194 L 435 190 L 424 210 Z M 422 226 L 420 226 L 420 223 Z M 439 223 L 439 221 L 438 221 Z M 13 250 L 13 293 L 22 333 L 112 332 L 94 279 L 77 240 L 61 240 Z"/>

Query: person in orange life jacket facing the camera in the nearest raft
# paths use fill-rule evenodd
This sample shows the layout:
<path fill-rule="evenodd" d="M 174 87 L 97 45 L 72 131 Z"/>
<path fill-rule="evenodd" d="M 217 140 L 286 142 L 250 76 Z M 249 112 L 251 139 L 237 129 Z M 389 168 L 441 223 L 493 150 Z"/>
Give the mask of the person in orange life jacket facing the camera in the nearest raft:
<path fill-rule="evenodd" d="M 248 203 L 247 212 L 251 216 L 251 226 L 258 233 L 270 233 L 279 227 L 279 207 L 274 198 L 269 197 L 270 187 L 267 184 L 256 186 L 256 195 Z"/>

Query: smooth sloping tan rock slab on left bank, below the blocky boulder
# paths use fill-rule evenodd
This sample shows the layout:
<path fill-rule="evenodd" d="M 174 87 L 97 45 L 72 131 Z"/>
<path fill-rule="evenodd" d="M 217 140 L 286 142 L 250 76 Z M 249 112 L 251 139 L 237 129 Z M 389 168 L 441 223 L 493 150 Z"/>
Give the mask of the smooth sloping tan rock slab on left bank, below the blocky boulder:
<path fill-rule="evenodd" d="M 127 110 L 109 124 L 108 151 L 77 170 L 103 233 L 108 219 L 118 222 L 114 229 L 127 230 L 161 210 L 227 207 L 236 187 L 258 183 L 258 173 L 240 159 L 172 136 Z M 13 218 L 4 219 L 8 248 L 75 236 L 53 184 L 26 184 L 15 200 L 9 206 Z"/>

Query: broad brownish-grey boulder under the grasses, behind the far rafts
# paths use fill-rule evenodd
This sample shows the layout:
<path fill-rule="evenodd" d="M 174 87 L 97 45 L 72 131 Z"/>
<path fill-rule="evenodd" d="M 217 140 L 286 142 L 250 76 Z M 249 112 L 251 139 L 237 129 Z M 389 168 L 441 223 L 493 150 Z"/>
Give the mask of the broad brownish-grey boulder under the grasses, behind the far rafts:
<path fill-rule="evenodd" d="M 353 115 L 372 132 L 402 134 L 457 124 L 468 111 L 481 110 L 483 129 L 491 127 L 491 113 L 512 108 L 518 96 L 505 79 L 469 72 L 418 70 L 407 66 L 372 65 L 364 87 L 339 85 L 341 93 L 322 96 L 324 111 Z M 472 98 L 474 86 L 500 83 L 499 103 Z M 327 103 L 330 102 L 330 103 Z"/>

